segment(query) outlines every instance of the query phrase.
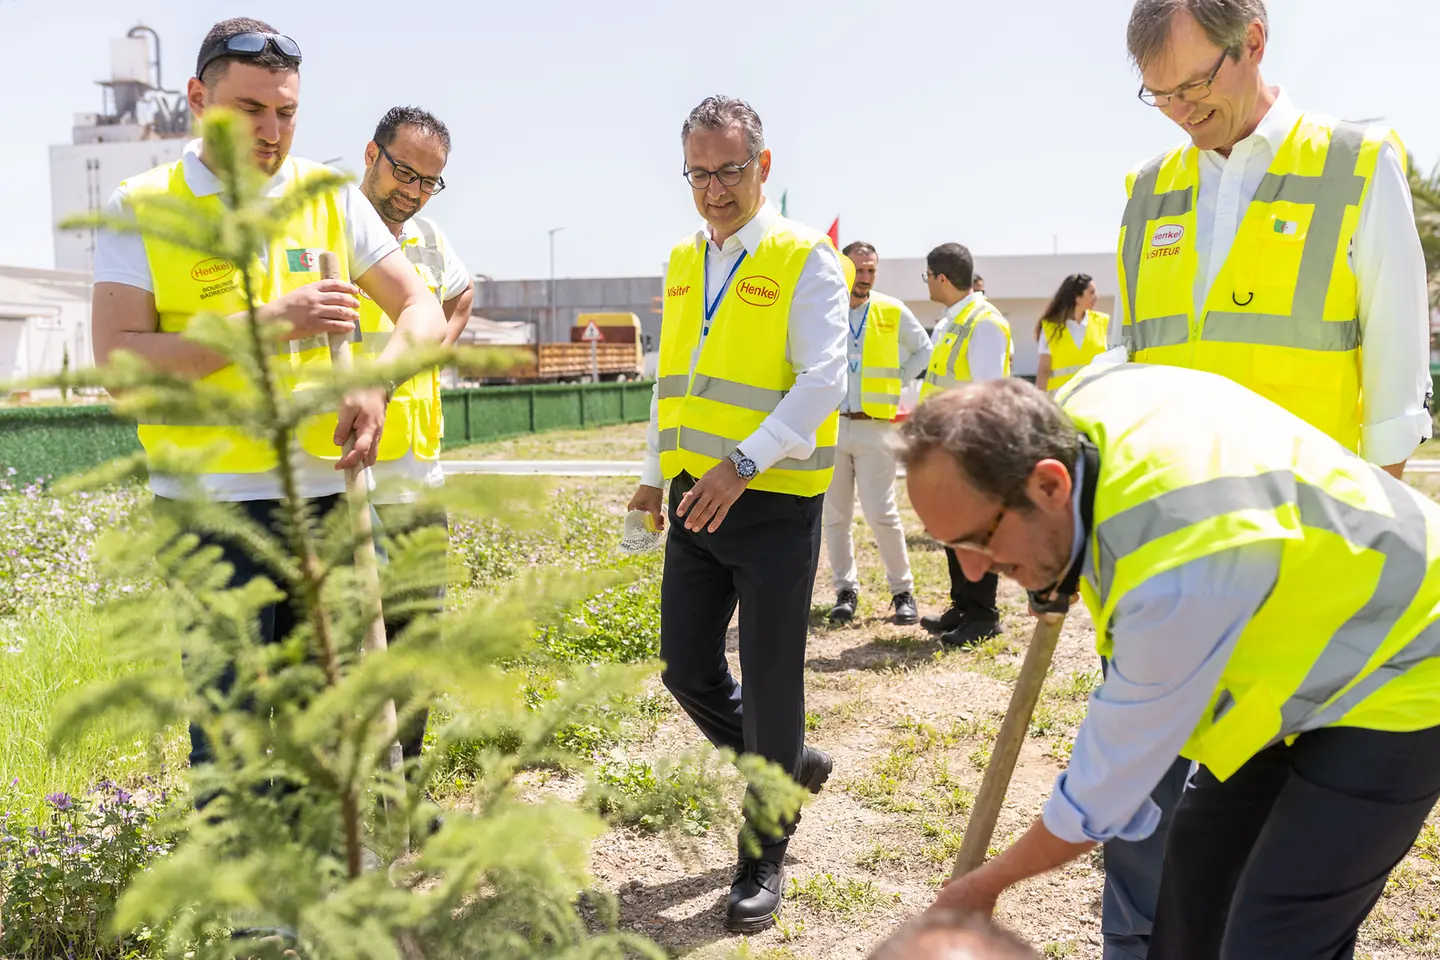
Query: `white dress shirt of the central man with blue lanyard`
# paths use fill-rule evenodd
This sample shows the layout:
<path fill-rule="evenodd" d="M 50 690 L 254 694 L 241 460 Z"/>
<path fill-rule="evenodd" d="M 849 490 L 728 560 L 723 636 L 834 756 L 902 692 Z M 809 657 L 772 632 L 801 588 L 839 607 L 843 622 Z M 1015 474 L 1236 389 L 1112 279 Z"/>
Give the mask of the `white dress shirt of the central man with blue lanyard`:
<path fill-rule="evenodd" d="M 770 225 L 779 217 L 775 204 L 766 200 L 750 222 L 734 236 L 717 245 L 710 239 L 710 227 L 696 232 L 696 248 L 706 252 L 706 296 L 714 299 L 740 253 L 753 255 Z M 801 268 L 786 318 L 788 348 L 795 384 L 785 393 L 775 410 L 760 426 L 740 442 L 740 450 L 755 461 L 763 474 L 776 462 L 791 458 L 804 461 L 815 452 L 815 430 L 840 406 L 845 396 L 845 337 L 850 317 L 850 288 L 840 266 L 840 253 L 828 243 L 816 243 Z M 721 320 L 717 315 L 717 320 Z M 704 345 L 701 334 L 700 345 Z M 694 373 L 700 347 L 690 357 Z M 645 463 L 641 484 L 664 486 L 660 468 L 660 383 L 651 391 L 649 429 L 645 432 Z"/>

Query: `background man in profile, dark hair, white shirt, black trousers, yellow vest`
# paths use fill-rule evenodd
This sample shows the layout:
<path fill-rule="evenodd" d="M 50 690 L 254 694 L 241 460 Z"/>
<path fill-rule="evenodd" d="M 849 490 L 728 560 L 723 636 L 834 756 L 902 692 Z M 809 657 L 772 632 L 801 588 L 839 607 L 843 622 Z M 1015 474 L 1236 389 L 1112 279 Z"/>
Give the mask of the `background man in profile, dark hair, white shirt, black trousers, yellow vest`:
<path fill-rule="evenodd" d="M 945 315 L 930 332 L 930 370 L 920 400 L 960 383 L 1009 376 L 1009 324 L 973 289 L 975 261 L 959 243 L 942 243 L 926 256 L 924 282 L 930 299 L 945 307 Z M 950 573 L 950 607 L 940 616 L 926 616 L 920 625 L 939 633 L 945 646 L 973 646 L 999 633 L 995 592 L 999 580 L 986 573 L 969 580 L 955 553 L 945 551 Z"/>

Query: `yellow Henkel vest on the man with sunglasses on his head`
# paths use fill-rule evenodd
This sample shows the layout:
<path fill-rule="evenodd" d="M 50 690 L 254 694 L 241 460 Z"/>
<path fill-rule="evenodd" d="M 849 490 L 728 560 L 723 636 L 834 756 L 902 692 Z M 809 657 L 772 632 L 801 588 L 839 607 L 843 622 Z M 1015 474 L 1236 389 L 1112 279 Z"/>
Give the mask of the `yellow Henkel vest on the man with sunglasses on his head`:
<path fill-rule="evenodd" d="M 288 181 L 328 171 L 321 164 L 298 158 L 285 161 L 291 170 Z M 200 312 L 233 315 L 245 309 L 243 284 L 239 268 L 228 261 L 209 258 L 196 250 L 161 239 L 174 235 L 193 219 L 216 217 L 222 212 L 219 194 L 196 197 L 184 178 L 184 166 L 174 161 L 131 177 L 124 187 L 134 210 L 154 279 L 156 312 L 160 330 L 184 332 Z M 160 200 L 164 199 L 164 200 Z M 153 201 L 160 200 L 160 201 Z M 279 237 L 268 250 L 262 268 L 256 261 L 246 266 L 251 289 L 259 304 L 268 304 L 285 294 L 320 279 L 320 252 L 330 250 L 340 259 L 340 275 L 348 278 L 348 249 L 344 209 L 336 193 L 327 193 L 295 212 Z M 311 377 L 328 371 L 330 344 L 325 337 L 278 341 L 281 376 L 287 389 L 304 389 Z M 200 383 L 233 393 L 253 390 L 235 364 L 203 377 Z M 297 440 L 312 456 L 338 458 L 334 443 L 336 416 L 307 419 L 295 432 Z M 197 453 L 210 448 L 203 458 L 202 474 L 259 474 L 276 466 L 274 450 L 264 438 L 232 426 L 199 426 L 141 423 L 140 442 L 154 458 L 164 450 Z"/>

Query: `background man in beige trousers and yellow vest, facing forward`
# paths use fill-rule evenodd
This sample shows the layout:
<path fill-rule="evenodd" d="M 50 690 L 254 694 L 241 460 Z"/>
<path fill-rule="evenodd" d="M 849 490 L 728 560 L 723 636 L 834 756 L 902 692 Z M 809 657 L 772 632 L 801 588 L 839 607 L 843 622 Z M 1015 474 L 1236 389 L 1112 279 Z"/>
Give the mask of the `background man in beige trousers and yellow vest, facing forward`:
<path fill-rule="evenodd" d="M 876 545 L 886 564 L 894 620 L 914 623 L 920 612 L 914 606 L 910 557 L 896 507 L 890 422 L 900 409 L 900 389 L 924 373 L 930 363 L 930 338 L 909 307 L 871 289 L 880 268 L 876 248 L 855 240 L 845 246 L 844 255 L 855 265 L 855 282 L 850 289 L 847 387 L 840 402 L 835 476 L 825 492 L 825 545 L 835 581 L 829 619 L 850 620 L 860 599 L 851 537 L 858 488 L 860 510 L 876 533 Z"/>

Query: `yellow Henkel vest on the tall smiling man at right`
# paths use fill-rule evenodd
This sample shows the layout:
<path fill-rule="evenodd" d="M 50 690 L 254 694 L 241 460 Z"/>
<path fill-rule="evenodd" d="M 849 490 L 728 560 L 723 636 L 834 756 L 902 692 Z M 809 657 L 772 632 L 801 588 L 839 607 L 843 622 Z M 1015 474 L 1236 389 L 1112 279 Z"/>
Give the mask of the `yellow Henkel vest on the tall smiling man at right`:
<path fill-rule="evenodd" d="M 1132 358 L 1230 377 L 1358 452 L 1361 343 L 1349 250 L 1387 142 L 1404 166 L 1391 130 L 1302 117 L 1260 181 L 1200 317 L 1200 151 L 1172 150 L 1130 171 L 1119 299 Z"/>

